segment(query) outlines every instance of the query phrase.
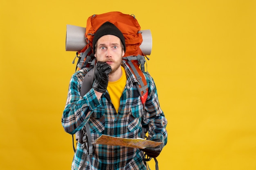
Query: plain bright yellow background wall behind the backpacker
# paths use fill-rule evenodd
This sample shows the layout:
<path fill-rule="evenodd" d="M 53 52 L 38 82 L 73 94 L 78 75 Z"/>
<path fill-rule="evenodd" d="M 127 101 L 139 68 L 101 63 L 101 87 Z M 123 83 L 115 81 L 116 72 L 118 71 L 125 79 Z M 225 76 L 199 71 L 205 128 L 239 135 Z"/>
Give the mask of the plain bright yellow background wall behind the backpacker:
<path fill-rule="evenodd" d="M 148 72 L 168 119 L 159 169 L 255 170 L 255 0 L 1 0 L 0 169 L 70 170 L 66 24 L 109 11 L 153 36 Z"/>

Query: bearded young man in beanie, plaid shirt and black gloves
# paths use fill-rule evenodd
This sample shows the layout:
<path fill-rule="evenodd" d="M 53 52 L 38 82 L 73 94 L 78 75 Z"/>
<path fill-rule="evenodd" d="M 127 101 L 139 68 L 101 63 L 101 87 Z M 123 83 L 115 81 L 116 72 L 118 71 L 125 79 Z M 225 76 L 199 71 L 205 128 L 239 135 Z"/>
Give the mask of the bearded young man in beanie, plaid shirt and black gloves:
<path fill-rule="evenodd" d="M 85 158 L 87 149 L 78 142 L 72 170 L 146 170 L 144 152 L 157 157 L 167 143 L 167 120 L 160 109 L 153 78 L 144 73 L 148 83 L 148 97 L 142 104 L 136 87 L 137 79 L 122 60 L 126 51 L 121 31 L 110 22 L 104 23 L 94 35 L 94 56 L 97 65 L 92 89 L 80 96 L 85 74 L 92 68 L 83 68 L 71 78 L 62 125 L 74 134 L 89 122 L 92 141 L 101 135 L 137 138 L 142 126 L 148 129 L 148 139 L 162 142 L 156 148 L 143 150 L 122 146 L 93 145 L 92 164 Z M 145 106 L 145 107 L 144 107 Z M 81 168 L 82 167 L 82 168 Z"/>

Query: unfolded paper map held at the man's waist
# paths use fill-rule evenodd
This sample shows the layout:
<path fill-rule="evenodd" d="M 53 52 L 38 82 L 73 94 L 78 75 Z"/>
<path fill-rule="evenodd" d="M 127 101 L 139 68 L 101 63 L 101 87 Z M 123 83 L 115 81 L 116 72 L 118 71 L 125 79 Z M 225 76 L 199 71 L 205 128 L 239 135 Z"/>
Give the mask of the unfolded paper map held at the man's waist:
<path fill-rule="evenodd" d="M 101 135 L 92 144 L 114 145 L 114 146 L 126 146 L 132 148 L 155 148 L 162 144 L 162 142 L 155 142 L 146 139 L 130 139 L 121 137 L 112 137 L 108 135 Z"/>

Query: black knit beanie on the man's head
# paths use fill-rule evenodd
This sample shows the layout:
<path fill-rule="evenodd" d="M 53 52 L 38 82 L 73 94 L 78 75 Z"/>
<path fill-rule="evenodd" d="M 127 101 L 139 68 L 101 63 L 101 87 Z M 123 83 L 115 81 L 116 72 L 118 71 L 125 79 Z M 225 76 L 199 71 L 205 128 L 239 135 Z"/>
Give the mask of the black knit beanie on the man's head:
<path fill-rule="evenodd" d="M 122 44 L 124 45 L 124 52 L 126 51 L 125 47 L 125 39 L 123 33 L 111 22 L 105 22 L 102 24 L 99 29 L 94 34 L 93 40 L 92 40 L 92 47 L 93 47 L 93 53 L 95 54 L 95 44 L 98 41 L 98 39 L 104 35 L 115 35 L 117 36 Z"/>

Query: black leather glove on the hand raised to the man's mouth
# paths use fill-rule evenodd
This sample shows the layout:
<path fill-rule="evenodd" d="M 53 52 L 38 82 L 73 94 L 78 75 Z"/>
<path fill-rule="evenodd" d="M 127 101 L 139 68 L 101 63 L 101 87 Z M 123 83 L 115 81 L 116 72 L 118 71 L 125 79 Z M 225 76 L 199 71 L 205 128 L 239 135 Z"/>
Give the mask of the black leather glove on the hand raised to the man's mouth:
<path fill-rule="evenodd" d="M 93 89 L 105 93 L 108 87 L 108 74 L 112 71 L 111 66 L 106 62 L 98 61 L 94 71 Z"/>

